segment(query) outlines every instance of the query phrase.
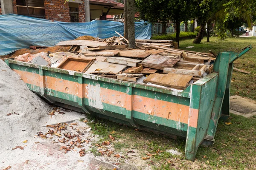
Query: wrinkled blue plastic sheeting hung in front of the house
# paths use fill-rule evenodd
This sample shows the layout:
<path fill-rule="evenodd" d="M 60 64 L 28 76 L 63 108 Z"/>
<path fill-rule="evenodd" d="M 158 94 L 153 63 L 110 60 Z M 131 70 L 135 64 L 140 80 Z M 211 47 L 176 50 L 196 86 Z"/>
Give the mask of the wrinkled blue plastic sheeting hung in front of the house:
<path fill-rule="evenodd" d="M 124 33 L 123 23 L 93 20 L 89 23 L 50 22 L 16 14 L 0 16 L 0 55 L 10 54 L 30 45 L 54 46 L 60 41 L 74 40 L 83 35 L 99 38 Z M 135 38 L 150 39 L 151 24 L 135 22 Z"/>

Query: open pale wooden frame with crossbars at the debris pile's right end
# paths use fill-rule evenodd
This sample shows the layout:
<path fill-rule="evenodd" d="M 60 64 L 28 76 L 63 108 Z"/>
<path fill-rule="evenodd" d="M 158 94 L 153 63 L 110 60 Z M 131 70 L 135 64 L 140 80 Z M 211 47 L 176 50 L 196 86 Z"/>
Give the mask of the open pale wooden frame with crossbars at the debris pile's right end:
<path fill-rule="evenodd" d="M 207 69 L 207 65 L 178 62 L 173 68 L 163 68 L 163 73 L 186 74 L 201 77 Z"/>

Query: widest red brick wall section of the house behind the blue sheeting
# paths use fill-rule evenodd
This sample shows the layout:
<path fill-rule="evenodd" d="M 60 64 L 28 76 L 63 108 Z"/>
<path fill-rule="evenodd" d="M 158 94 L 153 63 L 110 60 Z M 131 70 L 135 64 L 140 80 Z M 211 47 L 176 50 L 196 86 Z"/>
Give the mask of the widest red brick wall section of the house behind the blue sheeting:
<path fill-rule="evenodd" d="M 44 0 L 45 19 L 70 22 L 68 3 L 65 0 Z"/>

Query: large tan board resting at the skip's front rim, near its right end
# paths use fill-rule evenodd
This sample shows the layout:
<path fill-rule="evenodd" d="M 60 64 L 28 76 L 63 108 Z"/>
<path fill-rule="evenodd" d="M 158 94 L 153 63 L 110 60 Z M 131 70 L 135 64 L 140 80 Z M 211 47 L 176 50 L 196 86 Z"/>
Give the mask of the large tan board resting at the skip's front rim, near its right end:
<path fill-rule="evenodd" d="M 185 89 L 192 77 L 192 75 L 155 73 L 150 74 L 146 79 L 143 80 L 143 82 L 151 82 L 152 84 L 163 85 L 170 88 Z"/>

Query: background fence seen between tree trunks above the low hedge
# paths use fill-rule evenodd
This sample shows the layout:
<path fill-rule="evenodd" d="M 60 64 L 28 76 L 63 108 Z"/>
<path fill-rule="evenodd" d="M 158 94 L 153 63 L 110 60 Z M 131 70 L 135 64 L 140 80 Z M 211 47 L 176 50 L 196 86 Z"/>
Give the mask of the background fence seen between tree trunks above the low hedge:
<path fill-rule="evenodd" d="M 192 31 L 193 24 L 188 23 L 188 31 Z M 185 23 L 180 24 L 180 31 L 185 31 Z M 166 34 L 174 33 L 174 24 L 166 25 Z M 162 24 L 155 23 L 152 25 L 152 35 L 162 34 Z"/>

